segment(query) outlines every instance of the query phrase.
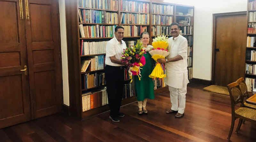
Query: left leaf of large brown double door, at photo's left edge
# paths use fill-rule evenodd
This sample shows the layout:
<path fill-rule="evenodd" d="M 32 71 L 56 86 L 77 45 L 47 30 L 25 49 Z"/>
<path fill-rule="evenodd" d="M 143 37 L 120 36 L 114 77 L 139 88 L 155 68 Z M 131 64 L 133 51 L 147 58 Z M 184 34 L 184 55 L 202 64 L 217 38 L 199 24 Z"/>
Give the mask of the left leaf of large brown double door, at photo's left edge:
<path fill-rule="evenodd" d="M 20 5 L 22 4 L 22 5 Z M 25 20 L 19 0 L 0 0 L 0 128 L 31 119 Z M 23 14 L 24 16 L 24 14 Z"/>

